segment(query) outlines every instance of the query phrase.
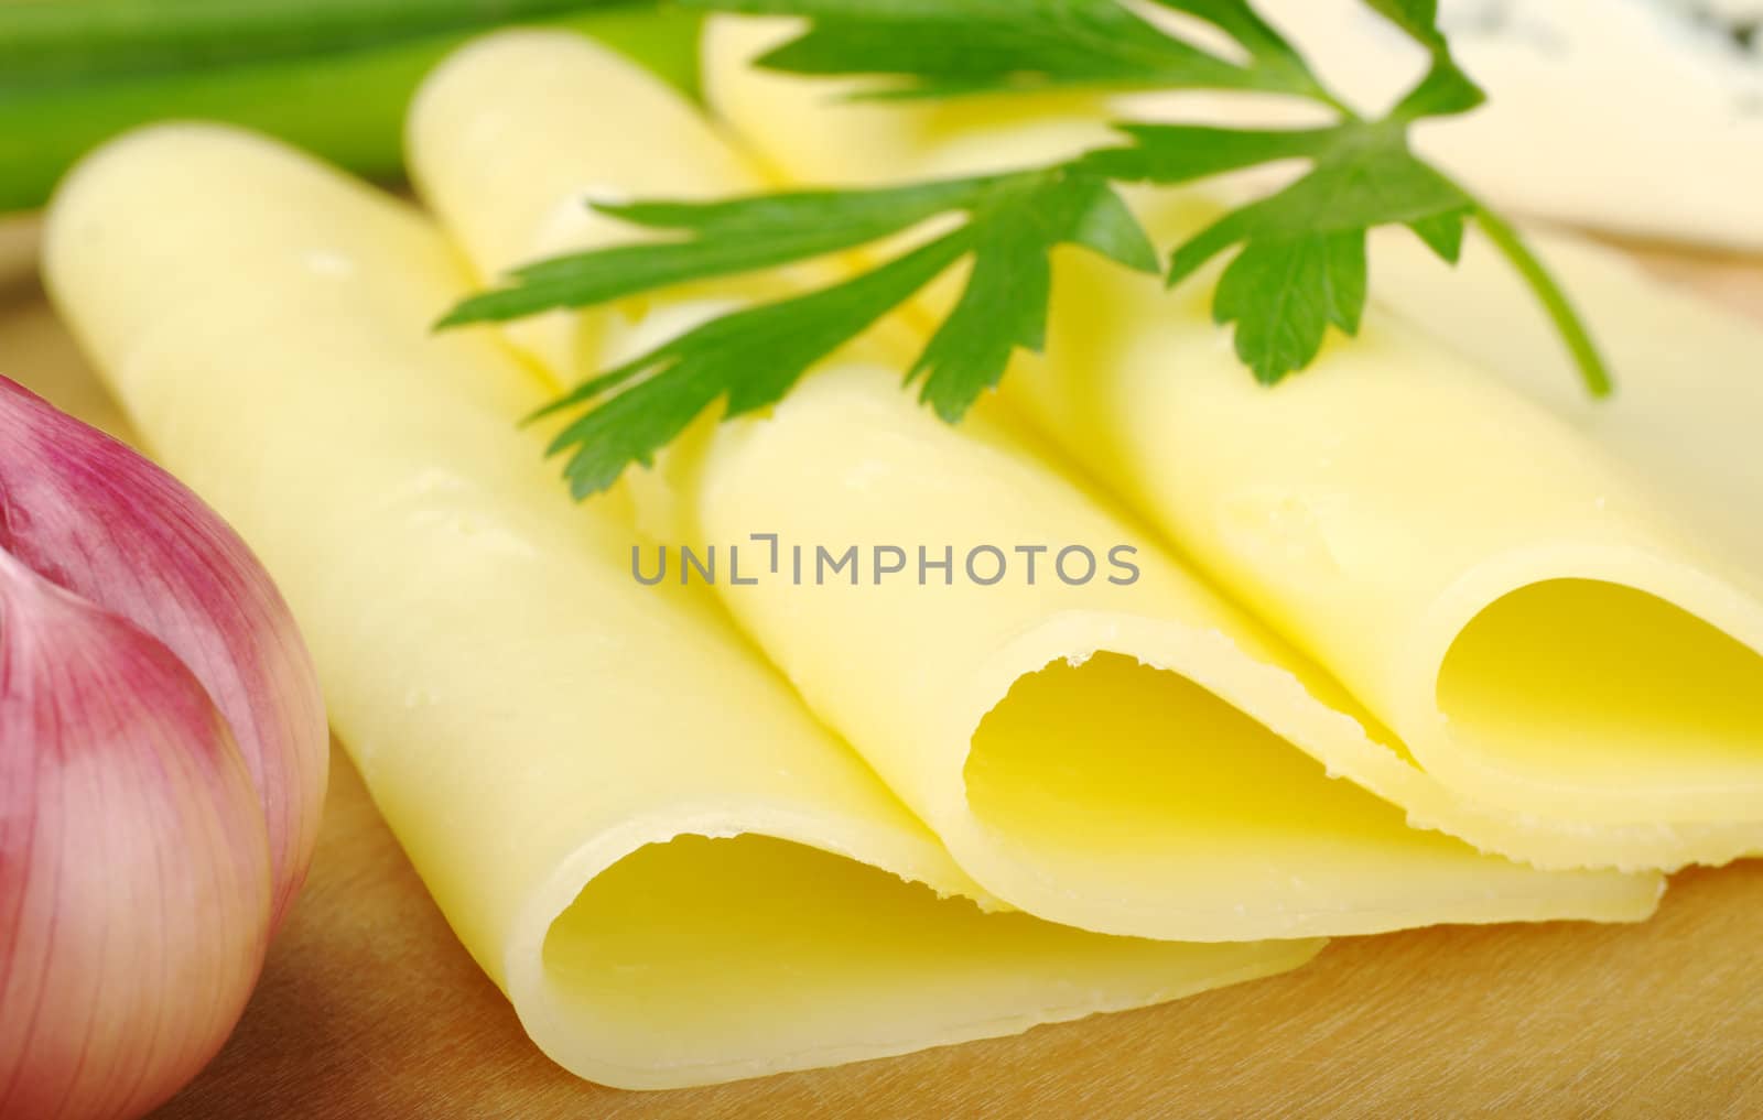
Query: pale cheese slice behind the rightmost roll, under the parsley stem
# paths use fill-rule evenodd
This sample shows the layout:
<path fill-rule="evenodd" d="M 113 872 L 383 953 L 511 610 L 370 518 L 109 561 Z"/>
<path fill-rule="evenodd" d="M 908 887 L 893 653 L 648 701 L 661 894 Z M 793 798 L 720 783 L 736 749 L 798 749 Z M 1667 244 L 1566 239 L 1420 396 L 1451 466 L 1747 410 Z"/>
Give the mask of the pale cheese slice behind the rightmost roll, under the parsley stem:
<path fill-rule="evenodd" d="M 1615 365 L 1618 393 L 1580 389 L 1543 306 L 1495 248 L 1472 238 L 1458 266 L 1405 231 L 1373 238 L 1377 301 L 1543 405 L 1670 493 L 1692 530 L 1763 572 L 1763 268 L 1756 315 L 1647 275 L 1627 254 L 1562 232 L 1530 243 L 1571 292 Z M 1735 261 L 1737 264 L 1737 261 Z M 1733 276 L 1740 276 L 1733 269 Z M 1488 329 L 1497 322 L 1499 329 Z"/>

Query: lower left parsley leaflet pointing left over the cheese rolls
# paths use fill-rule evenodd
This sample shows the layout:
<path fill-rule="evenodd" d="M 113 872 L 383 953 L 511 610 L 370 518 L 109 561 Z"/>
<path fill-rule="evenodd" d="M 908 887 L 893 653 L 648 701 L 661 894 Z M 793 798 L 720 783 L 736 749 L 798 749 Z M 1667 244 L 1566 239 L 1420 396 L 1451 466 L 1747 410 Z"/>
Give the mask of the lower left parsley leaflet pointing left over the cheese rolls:
<path fill-rule="evenodd" d="M 725 416 L 776 403 L 809 368 L 963 259 L 971 259 L 966 287 L 908 373 L 908 382 L 922 379 L 922 400 L 950 423 L 998 384 L 1017 349 L 1044 345 L 1054 248 L 1079 245 L 1128 268 L 1158 271 L 1157 248 L 1109 183 L 1065 166 L 885 190 L 608 211 L 693 236 L 527 266 L 508 287 L 462 303 L 443 326 L 592 306 L 682 280 L 857 248 L 943 213 L 966 211 L 968 218 L 843 284 L 714 319 L 547 407 L 541 417 L 582 412 L 552 444 L 552 454 L 569 454 L 566 475 L 577 497 L 606 490 L 629 463 L 649 465 L 718 402 L 725 402 Z"/>

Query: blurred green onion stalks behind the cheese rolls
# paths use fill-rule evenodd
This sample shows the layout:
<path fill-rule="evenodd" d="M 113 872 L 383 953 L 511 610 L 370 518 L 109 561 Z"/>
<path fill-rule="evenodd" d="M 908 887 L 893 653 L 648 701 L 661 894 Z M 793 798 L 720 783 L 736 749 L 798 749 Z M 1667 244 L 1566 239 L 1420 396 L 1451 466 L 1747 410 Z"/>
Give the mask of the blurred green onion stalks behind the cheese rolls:
<path fill-rule="evenodd" d="M 41 206 L 93 146 L 166 118 L 395 178 L 416 85 L 506 23 L 578 30 L 698 93 L 698 19 L 628 0 L 0 0 L 0 213 Z"/>

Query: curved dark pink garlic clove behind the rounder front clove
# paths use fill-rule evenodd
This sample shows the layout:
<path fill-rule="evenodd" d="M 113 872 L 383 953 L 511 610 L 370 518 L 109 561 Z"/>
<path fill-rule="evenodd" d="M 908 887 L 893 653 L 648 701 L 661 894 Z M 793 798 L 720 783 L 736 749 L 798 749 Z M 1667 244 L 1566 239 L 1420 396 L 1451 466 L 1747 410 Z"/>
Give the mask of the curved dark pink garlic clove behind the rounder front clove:
<path fill-rule="evenodd" d="M 330 733 L 312 660 L 250 549 L 182 483 L 0 377 L 0 548 L 162 641 L 250 770 L 280 928 L 317 842 Z"/>

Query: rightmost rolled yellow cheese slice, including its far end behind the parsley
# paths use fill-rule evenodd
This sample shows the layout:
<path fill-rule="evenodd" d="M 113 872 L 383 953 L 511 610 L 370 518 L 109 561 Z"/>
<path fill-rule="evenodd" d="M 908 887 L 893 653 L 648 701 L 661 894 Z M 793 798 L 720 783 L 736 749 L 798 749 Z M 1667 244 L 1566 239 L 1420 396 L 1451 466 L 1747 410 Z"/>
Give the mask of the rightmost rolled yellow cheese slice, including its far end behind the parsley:
<path fill-rule="evenodd" d="M 709 72 L 716 106 L 781 171 L 813 167 L 804 137 L 829 132 L 892 178 L 1072 148 L 1060 122 L 862 132 L 871 107 L 740 65 L 776 35 L 718 30 Z M 760 104 L 793 106 L 793 127 L 748 118 Z M 1144 217 L 1172 245 L 1215 211 L 1176 195 Z M 1407 271 L 1421 269 L 1416 254 Z M 1380 262 L 1377 291 L 1403 299 Z M 1432 271 L 1426 306 L 1507 368 L 1536 365 L 1546 349 L 1534 313 L 1513 321 L 1521 349 L 1497 342 L 1521 299 L 1490 287 L 1488 268 L 1463 289 Z M 1671 868 L 1759 851 L 1763 564 L 1728 542 L 1754 530 L 1708 528 L 1745 519 L 1742 493 L 1756 486 L 1705 486 L 1717 468 L 1694 467 L 1708 461 L 1696 451 L 1707 433 L 1724 467 L 1756 477 L 1744 423 L 1728 416 L 1756 416 L 1744 373 L 1756 359 L 1737 328 L 1692 350 L 1714 363 L 1696 379 L 1719 379 L 1722 396 L 1685 391 L 1654 419 L 1636 403 L 1627 419 L 1576 424 L 1576 405 L 1514 393 L 1382 313 L 1308 373 L 1262 389 L 1208 321 L 1201 289 L 1165 294 L 1067 255 L 1047 357 L 1015 363 L 1005 398 L 1405 743 L 1375 764 L 1329 745 L 1320 757 L 1416 822 L 1544 866 Z M 1613 315 L 1648 303 L 1627 299 Z M 1647 370 L 1634 377 L 1659 402 L 1691 365 L 1664 338 L 1707 331 L 1708 313 L 1675 299 L 1645 322 L 1610 343 L 1618 373 Z M 1722 363 L 1735 372 L 1717 373 Z M 1560 366 L 1536 368 L 1571 394 Z M 1636 454 L 1648 440 L 1682 467 Z"/>

